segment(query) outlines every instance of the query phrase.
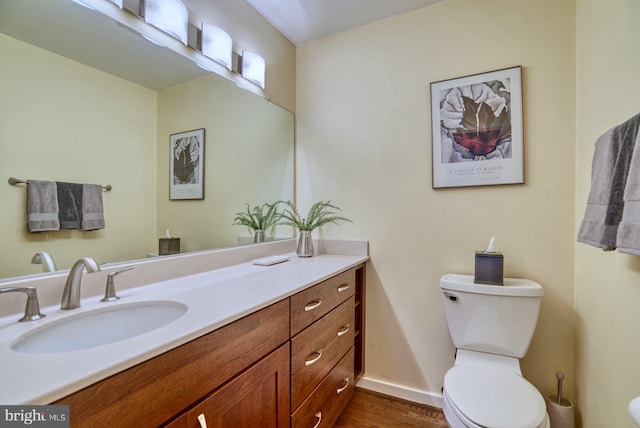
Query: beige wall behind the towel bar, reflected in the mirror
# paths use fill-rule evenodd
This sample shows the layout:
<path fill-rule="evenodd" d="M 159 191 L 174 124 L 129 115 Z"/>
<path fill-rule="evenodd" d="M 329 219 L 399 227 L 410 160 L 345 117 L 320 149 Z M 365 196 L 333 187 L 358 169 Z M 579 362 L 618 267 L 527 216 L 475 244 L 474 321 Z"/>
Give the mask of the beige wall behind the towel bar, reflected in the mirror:
<path fill-rule="evenodd" d="M 59 268 L 144 257 L 156 245 L 156 93 L 1 34 L 0 57 L 0 278 L 41 272 L 29 263 L 41 250 Z M 106 228 L 29 233 L 26 186 L 9 176 L 111 184 Z"/>

